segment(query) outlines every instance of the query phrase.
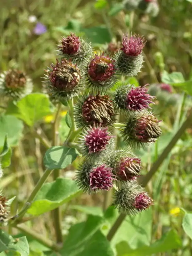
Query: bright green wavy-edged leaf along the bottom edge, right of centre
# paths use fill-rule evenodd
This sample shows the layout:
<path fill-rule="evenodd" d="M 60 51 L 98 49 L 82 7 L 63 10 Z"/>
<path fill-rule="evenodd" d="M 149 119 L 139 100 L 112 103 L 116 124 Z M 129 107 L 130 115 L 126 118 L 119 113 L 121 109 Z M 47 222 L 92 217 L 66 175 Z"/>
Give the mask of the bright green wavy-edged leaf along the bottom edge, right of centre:
<path fill-rule="evenodd" d="M 171 230 L 150 246 L 138 246 L 137 249 L 132 250 L 125 242 L 122 242 L 117 245 L 116 249 L 118 252 L 117 256 L 149 256 L 178 249 L 181 246 L 181 238 L 176 231 Z"/>

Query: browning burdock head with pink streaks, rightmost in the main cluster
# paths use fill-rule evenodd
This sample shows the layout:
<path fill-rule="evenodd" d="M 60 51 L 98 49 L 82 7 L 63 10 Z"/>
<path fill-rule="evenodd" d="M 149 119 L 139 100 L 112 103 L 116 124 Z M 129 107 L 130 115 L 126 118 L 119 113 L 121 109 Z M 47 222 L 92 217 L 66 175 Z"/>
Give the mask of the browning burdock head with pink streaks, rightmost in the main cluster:
<path fill-rule="evenodd" d="M 150 113 L 133 115 L 122 128 L 124 141 L 131 147 L 144 146 L 144 143 L 155 142 L 161 135 L 159 120 Z"/>

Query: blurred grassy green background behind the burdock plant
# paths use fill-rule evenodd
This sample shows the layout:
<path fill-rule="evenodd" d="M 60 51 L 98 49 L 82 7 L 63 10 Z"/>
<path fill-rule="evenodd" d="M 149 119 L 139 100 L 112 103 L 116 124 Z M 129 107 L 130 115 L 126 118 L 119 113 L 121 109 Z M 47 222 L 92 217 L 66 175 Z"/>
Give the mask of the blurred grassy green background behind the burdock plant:
<path fill-rule="evenodd" d="M 159 14 L 152 17 L 137 10 L 135 12 L 126 10 L 122 7 L 120 0 L 1 0 L 0 71 L 15 67 L 24 70 L 33 79 L 34 91 L 41 92 L 41 77 L 46 67 L 50 66 L 51 62 L 55 62 L 55 45 L 63 35 L 74 32 L 85 36 L 93 43 L 95 50 L 106 50 L 110 42 L 119 42 L 124 33 L 131 32 L 143 35 L 147 43 L 144 48 L 145 63 L 142 72 L 136 78 L 128 78 L 127 82 L 135 85 L 160 84 L 165 80 L 162 79 L 164 70 L 168 73 L 181 72 L 185 80 L 190 80 L 192 78 L 192 3 L 187 0 L 159 0 L 158 2 Z M 42 33 L 35 30 L 38 23 L 43 26 L 43 29 L 42 27 L 42 30 L 40 29 Z M 151 165 L 178 130 L 191 107 L 191 96 L 184 93 L 182 88 L 173 86 L 171 93 L 164 90 L 161 92 L 157 97 L 157 106 L 153 110 L 163 120 L 164 133 L 147 151 L 137 152 L 143 162 L 143 174 L 150 170 Z M 172 99 L 170 94 L 174 95 Z M 171 101 L 170 104 L 167 104 L 168 100 Z M 66 125 L 66 112 L 62 112 L 62 117 L 59 132 L 63 141 L 69 128 Z M 38 139 L 31 138 L 27 127 L 23 130 L 23 123 L 20 120 L 15 117 L 7 118 L 11 119 L 9 123 L 13 125 L 14 132 L 11 127 L 3 126 L 4 121 L 1 121 L 0 130 L 1 134 L 3 131 L 5 134 L 7 129 L 10 129 L 9 133 L 13 135 L 9 143 L 14 148 L 11 166 L 5 169 L 0 186 L 4 188 L 7 196 L 17 195 L 17 201 L 12 205 L 12 212 L 15 212 L 15 209 L 23 204 L 24 198 L 43 172 L 42 159 L 46 149 L 40 145 Z M 37 130 L 43 129 L 48 138 L 52 136 L 50 134 L 52 120 L 53 115 L 50 114 L 37 126 Z M 24 131 L 23 137 L 21 137 L 22 131 Z M 2 138 L 0 138 L 0 146 L 3 144 L 4 137 Z M 123 146 L 123 143 L 121 145 Z M 161 238 L 170 227 L 178 233 L 176 240 L 181 239 L 172 252 L 153 255 L 192 255 L 192 241 L 181 227 L 183 219 L 181 208 L 188 212 L 192 211 L 191 154 L 192 130 L 188 129 L 147 188 L 155 200 L 153 213 L 150 215 L 148 226 L 145 223 L 147 217 L 143 215 L 142 218 L 145 221 L 138 221 L 138 227 L 146 225 L 149 228 L 150 242 Z M 62 175 L 74 178 L 73 170 L 78 165 L 78 161 L 80 160 L 77 159 L 72 167 L 63 170 Z M 7 187 L 8 190 L 6 190 Z M 91 211 L 90 209 L 82 210 L 75 205 L 101 206 L 102 201 L 102 195 L 81 195 L 72 201 L 74 207 L 65 205 L 63 234 L 68 232 L 68 228 L 73 223 L 85 219 L 85 214 L 82 212 L 90 213 Z M 48 230 L 54 236 L 53 227 L 51 223 L 46 223 L 47 219 L 48 214 L 44 214 L 34 220 L 33 228 L 41 233 L 46 233 Z M 126 229 L 130 228 L 129 224 L 126 223 Z M 121 228 L 121 232 L 126 232 L 124 229 Z M 140 231 L 134 230 L 135 239 L 138 242 L 133 246 L 134 248 L 139 247 L 139 243 L 148 244 L 148 240 L 143 242 L 144 238 L 141 238 Z M 175 233 L 172 234 L 170 241 L 173 241 L 173 237 Z M 125 248 L 124 241 L 116 240 L 118 255 L 125 255 L 122 249 Z M 32 245 L 36 248 L 34 243 Z M 127 255 L 143 254 L 138 252 L 138 254 Z"/>

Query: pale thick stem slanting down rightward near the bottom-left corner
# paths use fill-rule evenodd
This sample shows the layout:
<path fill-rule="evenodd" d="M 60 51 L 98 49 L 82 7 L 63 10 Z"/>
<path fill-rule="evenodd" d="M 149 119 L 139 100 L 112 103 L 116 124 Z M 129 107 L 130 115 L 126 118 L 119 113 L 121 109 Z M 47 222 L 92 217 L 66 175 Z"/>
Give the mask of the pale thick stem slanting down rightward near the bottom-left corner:
<path fill-rule="evenodd" d="M 31 228 L 27 227 L 24 224 L 20 224 L 13 227 L 17 228 L 18 230 L 20 230 L 24 234 L 27 234 L 28 236 L 32 236 L 36 241 L 52 250 L 57 251 L 60 249 L 60 247 L 58 245 L 55 245 L 51 240 L 45 238 L 45 236 L 38 234 L 37 232 L 33 231 Z"/>

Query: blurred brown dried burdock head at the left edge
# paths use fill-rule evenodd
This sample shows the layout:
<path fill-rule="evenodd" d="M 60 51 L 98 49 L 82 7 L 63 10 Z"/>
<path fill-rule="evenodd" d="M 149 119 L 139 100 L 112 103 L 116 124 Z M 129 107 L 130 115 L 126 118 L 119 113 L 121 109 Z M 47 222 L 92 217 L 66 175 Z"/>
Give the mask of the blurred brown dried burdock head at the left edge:
<path fill-rule="evenodd" d="M 32 92 L 31 79 L 24 72 L 10 69 L 0 74 L 0 96 L 19 99 Z"/>

